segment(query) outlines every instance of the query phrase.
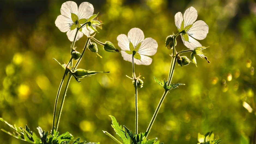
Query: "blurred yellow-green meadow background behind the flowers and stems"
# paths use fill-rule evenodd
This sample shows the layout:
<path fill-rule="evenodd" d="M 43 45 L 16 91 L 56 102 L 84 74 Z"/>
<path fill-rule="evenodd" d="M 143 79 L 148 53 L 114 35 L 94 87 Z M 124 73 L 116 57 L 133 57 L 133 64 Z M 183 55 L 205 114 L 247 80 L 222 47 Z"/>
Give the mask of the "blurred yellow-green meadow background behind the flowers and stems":
<path fill-rule="evenodd" d="M 63 75 L 63 68 L 52 58 L 67 63 L 70 57 L 71 42 L 54 23 L 64 2 L 0 1 L 0 117 L 17 126 L 27 124 L 36 133 L 38 126 L 45 131 L 51 129 L 54 101 Z M 83 1 L 75 2 L 79 6 Z M 171 51 L 165 48 L 165 39 L 172 32 L 177 33 L 174 15 L 193 6 L 198 12 L 197 20 L 209 26 L 207 37 L 200 43 L 209 46 L 204 53 L 211 63 L 197 57 L 197 67 L 192 63 L 182 68 L 176 65 L 172 82 L 186 85 L 167 95 L 149 138 L 157 137 L 166 144 L 195 144 L 198 133 L 213 131 L 216 139 L 223 139 L 223 144 L 252 141 L 256 127 L 255 111 L 250 109 L 255 109 L 255 1 L 88 2 L 104 23 L 95 36 L 98 40 L 111 41 L 120 49 L 117 36 L 127 35 L 131 28 L 138 27 L 145 38 L 152 37 L 158 42 L 157 53 L 151 56 L 152 64 L 135 65 L 136 74 L 145 77 L 138 97 L 139 132 L 146 131 L 164 92 L 153 76 L 159 80 L 168 76 Z M 180 37 L 177 41 L 177 50 L 186 49 Z M 76 42 L 78 51 L 82 51 L 85 42 L 86 36 Z M 125 76 L 131 76 L 132 64 L 124 61 L 121 54 L 98 47 L 103 58 L 87 50 L 79 68 L 110 73 L 81 79 L 81 83 L 71 79 L 59 131 L 69 131 L 75 138 L 88 142 L 114 144 L 102 132 L 115 135 L 108 115 L 135 131 L 134 87 Z M 4 122 L 0 122 L 0 128 L 11 131 Z M 2 131 L 0 142 L 26 143 Z"/>

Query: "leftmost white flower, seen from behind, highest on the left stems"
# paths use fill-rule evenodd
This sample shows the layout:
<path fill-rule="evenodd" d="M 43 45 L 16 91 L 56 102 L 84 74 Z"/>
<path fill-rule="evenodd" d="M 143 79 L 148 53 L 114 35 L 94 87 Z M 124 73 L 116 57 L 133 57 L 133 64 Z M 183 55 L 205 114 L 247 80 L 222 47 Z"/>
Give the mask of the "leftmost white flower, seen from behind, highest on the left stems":
<path fill-rule="evenodd" d="M 60 8 L 60 13 L 55 21 L 56 26 L 61 32 L 67 32 L 68 39 L 74 41 L 76 27 L 80 27 L 86 20 L 92 16 L 94 11 L 93 5 L 89 2 L 82 2 L 77 8 L 77 4 L 73 1 L 64 2 Z M 72 15 L 72 16 L 71 16 Z M 77 33 L 75 41 L 83 36 L 83 33 L 90 36 L 94 30 L 88 29 L 86 26 Z"/>

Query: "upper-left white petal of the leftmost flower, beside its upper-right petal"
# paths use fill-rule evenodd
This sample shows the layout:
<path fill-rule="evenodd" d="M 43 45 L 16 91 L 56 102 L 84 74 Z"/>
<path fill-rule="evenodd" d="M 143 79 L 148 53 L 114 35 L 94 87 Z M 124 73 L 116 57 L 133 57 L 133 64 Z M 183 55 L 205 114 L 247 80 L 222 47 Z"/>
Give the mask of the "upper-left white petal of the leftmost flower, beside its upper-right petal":
<path fill-rule="evenodd" d="M 74 13 L 77 15 L 77 12 L 78 12 L 77 4 L 73 1 L 67 1 L 61 5 L 60 13 L 69 19 L 71 19 L 71 13 Z"/>

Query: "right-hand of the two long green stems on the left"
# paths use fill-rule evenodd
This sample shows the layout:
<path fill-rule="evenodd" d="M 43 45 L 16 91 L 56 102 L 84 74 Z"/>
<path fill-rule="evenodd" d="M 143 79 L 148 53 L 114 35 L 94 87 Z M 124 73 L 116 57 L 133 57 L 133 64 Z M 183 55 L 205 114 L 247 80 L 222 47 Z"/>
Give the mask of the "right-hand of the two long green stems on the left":
<path fill-rule="evenodd" d="M 90 37 L 87 38 L 87 41 L 86 41 L 86 44 L 84 46 L 84 49 L 83 49 L 83 52 L 80 56 L 80 58 L 78 59 L 77 63 L 75 64 L 75 69 L 77 68 L 77 66 L 79 65 L 79 62 L 81 61 L 83 55 L 84 55 L 84 52 L 86 50 L 86 47 L 87 47 L 87 44 L 90 40 Z M 65 90 L 63 92 L 63 96 L 62 96 L 62 101 L 61 101 L 61 104 L 60 104 L 60 109 L 59 109 L 59 114 L 58 114 L 58 117 L 57 117 L 57 122 L 56 122 L 56 131 L 58 130 L 58 127 L 59 127 L 59 121 L 60 121 L 60 115 L 61 115 L 61 112 L 62 112 L 62 108 L 63 108 L 63 103 L 64 103 L 64 100 L 65 100 L 65 97 L 66 97 L 66 93 L 67 93 L 67 90 L 68 90 L 68 85 L 69 85 L 69 82 L 70 82 L 70 79 L 71 79 L 72 75 L 69 74 L 69 77 L 68 77 L 68 80 L 67 80 L 67 83 L 66 83 L 66 86 L 65 86 Z"/>

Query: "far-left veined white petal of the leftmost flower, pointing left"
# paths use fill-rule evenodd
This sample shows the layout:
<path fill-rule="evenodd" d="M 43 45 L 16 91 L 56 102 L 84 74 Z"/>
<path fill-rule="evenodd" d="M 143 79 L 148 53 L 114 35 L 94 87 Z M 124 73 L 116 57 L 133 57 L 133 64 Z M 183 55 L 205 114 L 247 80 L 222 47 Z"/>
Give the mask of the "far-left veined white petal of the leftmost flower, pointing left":
<path fill-rule="evenodd" d="M 59 15 L 55 20 L 55 25 L 59 28 L 61 32 L 67 32 L 70 30 L 70 27 L 74 24 L 74 22 L 62 15 Z"/>

